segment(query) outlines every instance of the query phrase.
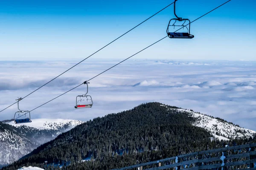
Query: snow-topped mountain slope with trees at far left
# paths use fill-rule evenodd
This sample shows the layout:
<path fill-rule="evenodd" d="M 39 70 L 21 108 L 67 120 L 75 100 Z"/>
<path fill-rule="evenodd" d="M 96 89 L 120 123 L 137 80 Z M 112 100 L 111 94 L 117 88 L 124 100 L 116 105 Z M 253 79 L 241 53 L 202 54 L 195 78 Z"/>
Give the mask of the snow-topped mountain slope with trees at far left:
<path fill-rule="evenodd" d="M 41 144 L 82 123 L 70 119 L 33 119 L 25 124 L 0 122 L 0 167 L 20 159 Z"/>

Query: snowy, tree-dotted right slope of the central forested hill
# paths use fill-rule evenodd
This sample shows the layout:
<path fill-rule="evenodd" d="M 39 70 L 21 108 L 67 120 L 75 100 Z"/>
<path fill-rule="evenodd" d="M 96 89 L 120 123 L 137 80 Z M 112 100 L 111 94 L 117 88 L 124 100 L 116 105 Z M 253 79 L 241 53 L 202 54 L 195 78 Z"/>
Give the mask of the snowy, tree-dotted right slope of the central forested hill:
<path fill-rule="evenodd" d="M 212 133 L 212 135 L 217 139 L 230 140 L 236 138 L 249 138 L 256 135 L 256 131 L 239 127 L 233 123 L 227 122 L 223 119 L 214 118 L 212 116 L 207 116 L 198 112 L 189 111 L 186 109 L 167 109 L 177 110 L 179 112 L 186 112 L 189 116 L 195 118 L 195 121 L 192 125 L 197 127 L 202 127 Z"/>

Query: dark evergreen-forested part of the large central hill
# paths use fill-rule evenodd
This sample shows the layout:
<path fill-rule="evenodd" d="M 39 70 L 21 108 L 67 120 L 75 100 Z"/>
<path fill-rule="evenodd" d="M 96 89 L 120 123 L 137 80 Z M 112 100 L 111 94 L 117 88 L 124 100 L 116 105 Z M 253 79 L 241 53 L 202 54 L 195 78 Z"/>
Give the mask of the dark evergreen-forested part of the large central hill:
<path fill-rule="evenodd" d="M 227 144 L 217 139 L 211 142 L 214 133 L 195 126 L 198 121 L 194 114 L 157 102 L 142 104 L 78 125 L 3 169 L 44 168 L 47 161 L 50 169 L 108 170 Z M 252 140 L 227 142 L 232 145 Z"/>

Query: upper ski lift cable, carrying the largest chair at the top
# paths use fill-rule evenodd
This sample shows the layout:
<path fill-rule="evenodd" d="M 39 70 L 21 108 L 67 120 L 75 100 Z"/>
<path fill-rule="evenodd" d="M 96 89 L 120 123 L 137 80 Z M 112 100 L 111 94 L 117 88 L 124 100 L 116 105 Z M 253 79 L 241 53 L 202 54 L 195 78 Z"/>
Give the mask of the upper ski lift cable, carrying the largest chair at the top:
<path fill-rule="evenodd" d="M 173 2 L 174 3 L 174 2 Z M 160 13 L 161 11 L 163 11 L 164 9 L 168 8 L 169 6 L 171 6 L 173 3 L 169 4 L 168 6 L 164 7 L 163 9 L 161 9 L 160 11 L 158 11 L 157 13 L 153 14 L 151 17 L 148 17 L 146 20 L 144 20 L 143 22 L 139 23 L 137 26 L 131 28 L 129 31 L 125 32 L 124 34 L 122 34 L 121 36 L 117 37 L 115 40 L 109 42 L 107 45 L 105 45 L 104 47 L 100 48 L 98 51 L 94 52 L 93 54 L 91 54 L 90 56 L 86 57 L 85 59 L 83 59 L 82 61 L 80 61 L 79 63 L 77 63 L 76 65 L 79 65 L 81 62 L 83 62 L 84 60 L 88 59 L 89 57 L 93 56 L 94 54 L 96 54 L 97 52 L 101 51 L 103 48 L 107 47 L 108 45 L 112 44 L 113 42 L 115 42 L 116 40 L 118 40 L 119 38 L 123 37 L 125 34 L 128 34 L 130 31 L 134 30 L 135 28 L 137 28 L 138 26 L 140 26 L 141 24 L 145 23 L 147 20 L 151 19 L 152 17 L 154 17 L 155 15 L 157 15 L 158 13 Z M 61 73 L 60 75 L 58 75 L 57 77 L 55 77 L 54 79 L 50 80 L 49 82 L 52 82 L 53 80 L 57 79 L 58 77 L 60 77 L 62 74 L 66 73 L 67 71 L 71 70 L 72 68 L 76 67 L 76 65 L 73 65 L 71 68 L 67 69 L 66 71 L 64 71 L 63 73 Z M 40 88 L 44 87 L 45 85 L 47 85 L 49 82 L 45 83 L 44 85 L 42 85 L 41 87 L 37 88 L 36 90 L 32 91 L 30 94 L 26 95 L 25 97 L 23 97 L 22 99 L 26 98 L 27 96 L 31 95 L 32 93 L 34 93 L 35 91 L 38 91 Z M 13 103 L 12 105 L 16 104 L 17 102 Z M 11 107 L 12 105 L 9 105 L 7 108 Z M 6 110 L 7 108 L 3 109 L 2 111 Z M 0 112 L 2 112 L 0 111 Z"/>

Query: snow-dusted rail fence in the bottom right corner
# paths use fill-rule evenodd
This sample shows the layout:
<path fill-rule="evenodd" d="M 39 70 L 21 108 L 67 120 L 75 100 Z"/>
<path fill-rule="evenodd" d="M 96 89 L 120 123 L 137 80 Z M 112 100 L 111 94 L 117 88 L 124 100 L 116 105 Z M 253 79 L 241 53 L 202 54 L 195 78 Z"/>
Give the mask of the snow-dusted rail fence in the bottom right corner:
<path fill-rule="evenodd" d="M 256 143 L 188 153 L 113 170 L 256 170 Z M 162 164 L 162 166 L 161 166 Z"/>

